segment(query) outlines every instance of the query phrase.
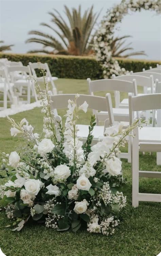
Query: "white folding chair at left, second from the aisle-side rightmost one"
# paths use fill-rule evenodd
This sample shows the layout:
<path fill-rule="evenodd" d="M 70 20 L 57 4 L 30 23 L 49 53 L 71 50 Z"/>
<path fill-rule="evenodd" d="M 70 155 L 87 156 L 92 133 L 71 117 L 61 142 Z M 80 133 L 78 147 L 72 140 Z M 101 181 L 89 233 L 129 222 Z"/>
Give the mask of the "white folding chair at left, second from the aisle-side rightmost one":
<path fill-rule="evenodd" d="M 18 71 L 21 73 L 26 74 L 25 79 L 14 79 L 14 72 Z M 19 90 L 20 95 L 22 96 L 23 88 L 27 89 L 27 101 L 23 101 L 23 103 L 30 103 L 31 102 L 31 90 L 35 100 L 37 101 L 37 94 L 34 86 L 34 82 L 32 79 L 32 74 L 30 70 L 30 66 L 12 66 L 8 67 L 8 73 L 11 76 L 11 81 L 14 83 L 14 86 Z"/>

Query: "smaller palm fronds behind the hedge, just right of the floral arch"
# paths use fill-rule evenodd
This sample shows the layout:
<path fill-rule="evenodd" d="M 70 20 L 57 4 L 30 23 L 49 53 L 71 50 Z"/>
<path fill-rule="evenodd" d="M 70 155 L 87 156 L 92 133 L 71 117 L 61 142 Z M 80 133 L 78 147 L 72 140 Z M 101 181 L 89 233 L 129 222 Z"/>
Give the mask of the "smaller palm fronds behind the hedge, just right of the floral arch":
<path fill-rule="evenodd" d="M 123 54 L 128 50 L 133 50 L 132 47 L 129 47 L 131 43 L 124 46 L 126 40 L 123 40 L 123 39 L 129 38 L 129 37 L 131 36 L 127 35 L 127 36 L 112 38 L 111 51 L 112 51 L 113 57 L 127 58 L 129 56 L 134 56 L 134 55 L 146 55 L 144 51 L 129 52 L 129 53 Z"/>

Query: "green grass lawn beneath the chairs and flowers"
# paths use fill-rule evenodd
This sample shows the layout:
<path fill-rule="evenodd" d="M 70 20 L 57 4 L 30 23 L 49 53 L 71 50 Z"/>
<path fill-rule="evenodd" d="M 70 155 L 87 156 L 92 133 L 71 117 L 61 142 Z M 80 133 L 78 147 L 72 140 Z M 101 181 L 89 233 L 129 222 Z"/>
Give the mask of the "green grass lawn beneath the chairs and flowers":
<path fill-rule="evenodd" d="M 88 93 L 86 80 L 58 79 L 58 90 L 63 93 Z M 105 93 L 99 93 L 103 96 Z M 127 95 L 121 95 L 121 98 Z M 112 94 L 113 99 L 113 94 Z M 59 112 L 65 114 L 64 110 Z M 88 124 L 91 112 L 79 116 L 79 123 Z M 26 118 L 36 132 L 42 131 L 40 108 L 12 116 L 15 121 Z M 0 152 L 10 153 L 22 143 L 18 137 L 10 136 L 10 123 L 6 118 L 0 118 Z M 127 206 L 123 220 L 115 234 L 110 237 L 90 234 L 84 230 L 76 234 L 57 232 L 42 225 L 26 225 L 21 232 L 12 232 L 5 228 L 9 222 L 4 212 L 0 212 L 0 247 L 7 256 L 156 256 L 160 248 L 160 216 L 159 203 L 141 202 L 138 208 L 131 207 L 131 166 L 123 160 L 123 174 L 128 185 L 123 188 L 127 195 Z M 156 154 L 140 154 L 141 170 L 161 170 L 156 166 Z M 3 184 L 5 180 L 1 180 Z M 141 178 L 140 192 L 161 193 L 159 179 Z"/>

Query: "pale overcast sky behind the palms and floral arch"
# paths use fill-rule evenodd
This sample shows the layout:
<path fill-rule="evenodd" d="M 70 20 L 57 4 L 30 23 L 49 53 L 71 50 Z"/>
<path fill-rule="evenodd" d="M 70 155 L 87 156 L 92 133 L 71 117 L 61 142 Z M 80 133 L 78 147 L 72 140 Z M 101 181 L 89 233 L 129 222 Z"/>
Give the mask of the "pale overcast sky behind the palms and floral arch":
<path fill-rule="evenodd" d="M 82 6 L 82 13 L 94 5 L 94 12 L 99 12 L 102 8 L 99 21 L 106 14 L 108 8 L 121 0 L 74 0 L 74 1 L 55 1 L 55 0 L 0 0 L 0 39 L 6 44 L 14 44 L 12 52 L 26 53 L 28 50 L 41 49 L 41 45 L 36 43 L 25 44 L 25 40 L 30 36 L 30 30 L 40 30 L 45 33 L 53 33 L 50 29 L 40 26 L 40 22 L 51 24 L 49 11 L 55 8 L 64 15 L 64 5 L 68 8 Z M 144 50 L 148 56 L 136 56 L 135 58 L 147 58 L 159 60 L 161 57 L 161 16 L 153 11 L 141 11 L 126 15 L 122 23 L 119 24 L 120 30 L 115 35 L 131 35 L 132 38 L 127 42 L 132 42 L 135 51 Z M 97 25 L 95 26 L 97 28 Z M 54 35 L 54 33 L 53 33 Z M 56 35 L 55 35 L 56 36 Z"/>

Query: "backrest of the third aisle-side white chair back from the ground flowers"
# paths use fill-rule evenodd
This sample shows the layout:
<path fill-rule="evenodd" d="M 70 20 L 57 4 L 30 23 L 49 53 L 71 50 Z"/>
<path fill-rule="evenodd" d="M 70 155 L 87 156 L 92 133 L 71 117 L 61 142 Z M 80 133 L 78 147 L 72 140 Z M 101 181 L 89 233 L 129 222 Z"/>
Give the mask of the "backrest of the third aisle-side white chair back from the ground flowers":
<path fill-rule="evenodd" d="M 153 87 L 154 87 L 153 75 L 150 75 L 149 77 L 147 77 L 147 76 L 143 76 L 143 75 L 142 76 L 135 75 L 135 73 L 131 74 L 131 75 L 119 75 L 119 76 L 115 76 L 113 74 L 112 78 L 118 79 L 118 80 L 130 81 L 130 82 L 132 82 L 133 79 L 135 79 L 137 82 L 137 85 L 143 86 L 143 87 L 150 87 L 151 92 L 153 92 Z"/>

